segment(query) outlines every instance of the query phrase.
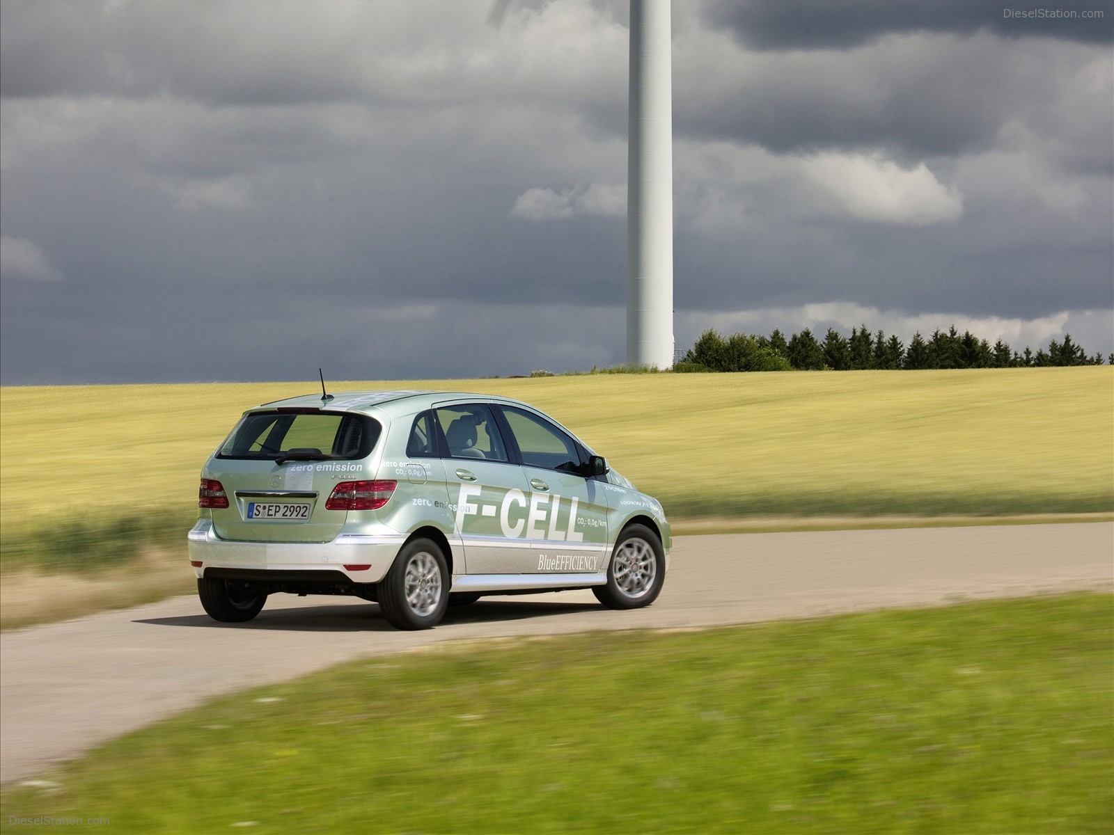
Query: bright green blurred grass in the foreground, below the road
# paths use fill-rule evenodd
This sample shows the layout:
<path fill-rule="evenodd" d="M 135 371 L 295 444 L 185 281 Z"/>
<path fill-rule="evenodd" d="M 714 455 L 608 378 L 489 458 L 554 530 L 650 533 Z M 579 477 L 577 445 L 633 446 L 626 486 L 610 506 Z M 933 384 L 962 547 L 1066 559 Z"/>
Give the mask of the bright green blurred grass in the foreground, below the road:
<path fill-rule="evenodd" d="M 3 794 L 120 833 L 1108 833 L 1114 598 L 451 645 Z M 204 671 L 198 671 L 204 675 Z M 42 832 L 9 825 L 6 832 Z"/>

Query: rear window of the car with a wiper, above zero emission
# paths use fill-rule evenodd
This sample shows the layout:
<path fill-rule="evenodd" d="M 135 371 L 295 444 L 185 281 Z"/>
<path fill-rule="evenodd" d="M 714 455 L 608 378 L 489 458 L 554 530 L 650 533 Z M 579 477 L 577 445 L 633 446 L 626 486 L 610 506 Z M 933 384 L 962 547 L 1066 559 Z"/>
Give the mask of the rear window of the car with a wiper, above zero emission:
<path fill-rule="evenodd" d="M 252 412 L 240 419 L 217 458 L 274 460 L 292 452 L 322 460 L 367 458 L 382 426 L 345 412 Z"/>

